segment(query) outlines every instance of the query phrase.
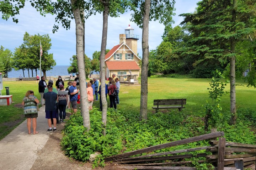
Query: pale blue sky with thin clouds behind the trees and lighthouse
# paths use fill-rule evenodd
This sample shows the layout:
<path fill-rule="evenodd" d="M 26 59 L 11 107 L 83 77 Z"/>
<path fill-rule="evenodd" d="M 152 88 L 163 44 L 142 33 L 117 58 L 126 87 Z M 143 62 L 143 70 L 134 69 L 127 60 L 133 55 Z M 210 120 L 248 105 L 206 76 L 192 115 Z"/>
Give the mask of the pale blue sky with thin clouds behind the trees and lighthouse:
<path fill-rule="evenodd" d="M 178 15 L 194 12 L 198 1 L 177 0 L 175 3 L 176 11 L 174 11 L 176 15 L 173 16 L 175 23 L 172 24 L 172 27 L 179 25 L 183 21 L 183 17 Z M 0 17 L 2 17 L 1 13 Z M 52 29 L 55 23 L 55 16 L 48 14 L 46 17 L 43 17 L 28 3 L 25 5 L 25 8 L 20 10 L 20 15 L 16 16 L 16 18 L 18 19 L 17 24 L 12 22 L 12 18 L 7 21 L 0 19 L 0 45 L 14 52 L 15 47 L 19 47 L 23 43 L 25 32 L 28 32 L 30 35 L 49 34 L 52 40 L 52 47 L 48 53 L 53 53 L 56 65 L 70 65 L 70 58 L 76 54 L 74 20 L 71 21 L 69 30 L 62 28 L 60 25 L 58 32 L 53 34 Z M 135 23 L 130 22 L 130 18 L 130 12 L 124 13 L 117 18 L 108 17 L 106 49 L 112 49 L 114 45 L 119 44 L 119 34 L 124 34 L 124 29 L 130 24 L 134 29 L 134 34 L 139 35 L 138 53 L 139 56 L 142 56 L 142 29 Z M 102 23 L 102 14 L 90 16 L 85 21 L 85 54 L 90 58 L 92 58 L 94 51 L 101 50 Z M 155 50 L 160 45 L 164 28 L 164 25 L 158 21 L 149 22 L 149 50 Z"/>

